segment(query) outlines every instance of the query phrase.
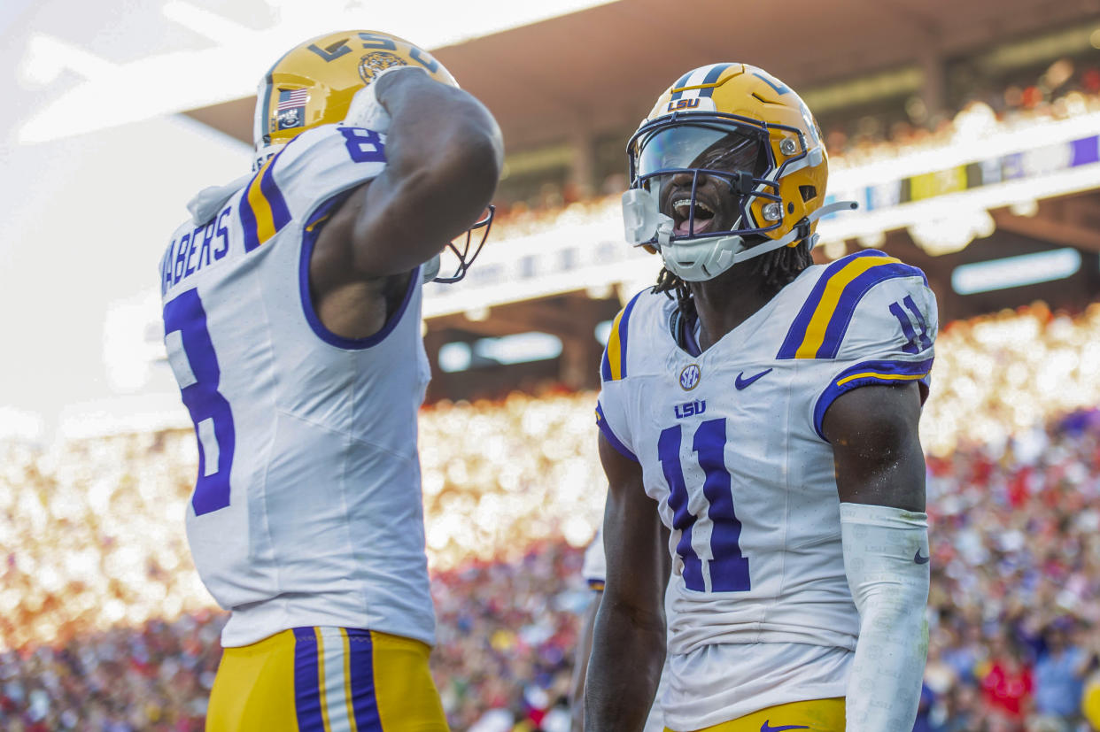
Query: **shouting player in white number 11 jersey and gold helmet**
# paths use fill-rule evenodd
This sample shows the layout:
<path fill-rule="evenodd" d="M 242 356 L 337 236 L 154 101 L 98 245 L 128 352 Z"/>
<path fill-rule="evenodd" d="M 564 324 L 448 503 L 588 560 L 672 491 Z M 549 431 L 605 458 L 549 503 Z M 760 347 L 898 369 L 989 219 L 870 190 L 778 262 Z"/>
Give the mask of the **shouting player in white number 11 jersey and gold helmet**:
<path fill-rule="evenodd" d="M 817 125 L 759 68 L 684 74 L 628 155 L 627 239 L 664 266 L 601 365 L 585 730 L 641 729 L 671 556 L 669 729 L 908 732 L 927 645 L 927 281 L 872 249 L 813 264 L 818 219 L 854 204 L 825 203 Z"/>

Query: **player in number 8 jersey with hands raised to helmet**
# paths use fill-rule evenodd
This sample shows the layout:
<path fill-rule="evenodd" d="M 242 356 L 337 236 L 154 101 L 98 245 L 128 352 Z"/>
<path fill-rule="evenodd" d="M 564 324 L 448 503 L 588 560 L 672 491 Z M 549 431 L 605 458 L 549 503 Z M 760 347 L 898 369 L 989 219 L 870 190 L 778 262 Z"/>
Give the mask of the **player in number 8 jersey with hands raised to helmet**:
<path fill-rule="evenodd" d="M 188 541 L 231 610 L 207 730 L 446 730 L 421 284 L 485 211 L 501 133 L 431 55 L 351 31 L 271 67 L 255 143 L 253 174 L 191 201 L 161 267 L 199 444 Z"/>

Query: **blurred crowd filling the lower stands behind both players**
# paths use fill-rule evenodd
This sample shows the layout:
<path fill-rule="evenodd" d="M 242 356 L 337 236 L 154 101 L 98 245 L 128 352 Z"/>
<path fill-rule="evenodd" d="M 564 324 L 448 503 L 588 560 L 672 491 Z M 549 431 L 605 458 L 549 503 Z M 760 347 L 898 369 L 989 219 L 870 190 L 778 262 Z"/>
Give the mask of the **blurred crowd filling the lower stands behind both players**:
<path fill-rule="evenodd" d="M 954 323 L 938 346 L 920 729 L 1076 729 L 1087 695 L 1100 706 L 1100 304 Z M 455 729 L 568 729 L 603 503 L 594 399 L 421 414 L 433 667 Z M 0 729 L 201 729 L 223 615 L 184 539 L 195 463 L 189 431 L 0 444 Z"/>

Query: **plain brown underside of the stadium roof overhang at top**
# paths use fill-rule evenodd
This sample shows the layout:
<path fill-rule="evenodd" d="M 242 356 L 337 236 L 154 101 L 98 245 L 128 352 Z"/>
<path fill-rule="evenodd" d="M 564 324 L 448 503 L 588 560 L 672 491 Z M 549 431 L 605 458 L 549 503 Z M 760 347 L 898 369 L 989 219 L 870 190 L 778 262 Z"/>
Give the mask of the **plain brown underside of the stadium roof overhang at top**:
<path fill-rule="evenodd" d="M 684 70 L 767 68 L 799 89 L 938 59 L 1096 16 L 1048 0 L 619 0 L 433 49 L 519 149 L 636 124 Z M 187 112 L 251 143 L 254 98 Z"/>

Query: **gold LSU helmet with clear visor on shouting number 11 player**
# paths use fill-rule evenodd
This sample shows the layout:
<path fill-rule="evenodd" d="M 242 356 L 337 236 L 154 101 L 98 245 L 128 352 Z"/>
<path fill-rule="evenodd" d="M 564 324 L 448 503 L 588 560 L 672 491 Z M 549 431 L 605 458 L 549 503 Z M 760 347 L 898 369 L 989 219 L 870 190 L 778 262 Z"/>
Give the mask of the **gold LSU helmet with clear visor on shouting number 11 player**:
<path fill-rule="evenodd" d="M 627 240 L 660 251 L 684 280 L 711 279 L 737 262 L 816 241 L 828 156 L 802 99 L 767 71 L 712 64 L 681 76 L 658 98 L 627 144 Z M 717 219 L 698 197 L 707 179 L 728 184 L 735 203 Z M 705 198 L 705 197 L 704 197 Z"/>

